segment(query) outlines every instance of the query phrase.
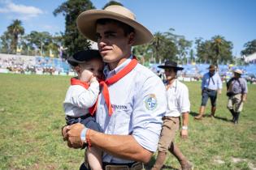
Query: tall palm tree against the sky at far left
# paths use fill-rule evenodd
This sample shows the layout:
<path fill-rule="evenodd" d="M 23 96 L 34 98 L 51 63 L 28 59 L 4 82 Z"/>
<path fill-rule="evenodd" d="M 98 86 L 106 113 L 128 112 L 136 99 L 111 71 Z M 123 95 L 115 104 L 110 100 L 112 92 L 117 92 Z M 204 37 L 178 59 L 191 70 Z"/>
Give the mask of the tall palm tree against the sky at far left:
<path fill-rule="evenodd" d="M 7 27 L 7 32 L 12 35 L 11 40 L 11 52 L 15 53 L 18 45 L 19 35 L 24 35 L 24 28 L 21 26 L 21 21 L 19 19 L 13 20 L 10 26 Z"/>

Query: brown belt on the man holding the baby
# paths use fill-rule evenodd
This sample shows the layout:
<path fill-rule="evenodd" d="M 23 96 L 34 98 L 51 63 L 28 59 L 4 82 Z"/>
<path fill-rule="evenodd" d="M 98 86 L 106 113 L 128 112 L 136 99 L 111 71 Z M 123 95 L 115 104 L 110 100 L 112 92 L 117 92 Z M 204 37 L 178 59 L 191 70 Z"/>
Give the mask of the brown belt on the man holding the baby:
<path fill-rule="evenodd" d="M 143 164 L 141 162 L 134 162 L 128 164 L 102 163 L 102 168 L 105 170 L 141 170 Z"/>

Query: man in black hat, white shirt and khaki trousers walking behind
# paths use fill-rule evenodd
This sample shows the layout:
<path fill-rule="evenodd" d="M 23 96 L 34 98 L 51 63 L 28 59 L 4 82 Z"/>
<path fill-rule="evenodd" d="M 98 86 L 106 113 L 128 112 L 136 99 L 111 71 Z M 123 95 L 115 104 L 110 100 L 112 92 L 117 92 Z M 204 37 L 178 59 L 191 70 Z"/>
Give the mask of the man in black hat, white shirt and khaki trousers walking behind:
<path fill-rule="evenodd" d="M 192 164 L 181 153 L 179 147 L 174 144 L 176 131 L 180 128 L 180 116 L 182 115 L 182 138 L 188 137 L 189 125 L 189 89 L 177 79 L 177 71 L 183 70 L 176 62 L 165 62 L 165 65 L 158 66 L 164 69 L 167 79 L 167 113 L 163 117 L 161 136 L 158 142 L 158 157 L 152 170 L 163 167 L 167 157 L 167 150 L 179 160 L 182 170 L 193 169 Z"/>

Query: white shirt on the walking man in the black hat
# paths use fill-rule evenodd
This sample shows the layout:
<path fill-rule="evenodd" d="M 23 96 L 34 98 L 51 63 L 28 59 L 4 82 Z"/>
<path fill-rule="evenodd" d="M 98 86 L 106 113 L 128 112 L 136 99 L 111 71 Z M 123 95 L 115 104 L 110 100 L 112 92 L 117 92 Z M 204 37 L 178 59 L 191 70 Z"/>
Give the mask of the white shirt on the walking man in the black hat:
<path fill-rule="evenodd" d="M 181 113 L 190 112 L 188 87 L 176 79 L 167 89 L 167 102 L 166 117 L 180 117 Z"/>

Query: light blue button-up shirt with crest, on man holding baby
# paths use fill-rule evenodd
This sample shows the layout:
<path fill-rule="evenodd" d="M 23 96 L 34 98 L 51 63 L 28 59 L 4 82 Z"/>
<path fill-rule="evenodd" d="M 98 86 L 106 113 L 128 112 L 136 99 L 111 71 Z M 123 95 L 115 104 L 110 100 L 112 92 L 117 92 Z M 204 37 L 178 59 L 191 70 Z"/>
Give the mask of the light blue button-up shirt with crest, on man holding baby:
<path fill-rule="evenodd" d="M 118 73 L 131 62 L 128 58 L 124 63 L 108 70 L 105 67 L 106 79 Z M 158 138 L 162 129 L 162 117 L 167 108 L 167 96 L 161 79 L 151 70 L 137 64 L 124 78 L 108 87 L 113 114 L 108 115 L 104 97 L 98 96 L 96 121 L 105 134 L 121 134 L 132 136 L 149 151 L 156 151 Z M 106 152 L 103 162 L 130 163 L 132 160 L 119 159 Z"/>

